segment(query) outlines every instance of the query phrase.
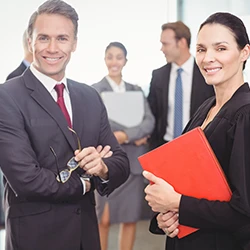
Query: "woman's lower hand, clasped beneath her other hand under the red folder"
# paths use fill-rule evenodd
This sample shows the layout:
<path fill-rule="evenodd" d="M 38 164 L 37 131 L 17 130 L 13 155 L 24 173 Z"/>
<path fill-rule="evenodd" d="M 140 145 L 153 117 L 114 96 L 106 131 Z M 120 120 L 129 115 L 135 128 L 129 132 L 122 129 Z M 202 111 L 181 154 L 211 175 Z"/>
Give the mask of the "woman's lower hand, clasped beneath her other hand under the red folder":
<path fill-rule="evenodd" d="M 179 233 L 179 215 L 175 212 L 159 213 L 156 217 L 158 227 L 162 229 L 170 238 L 174 238 Z"/>

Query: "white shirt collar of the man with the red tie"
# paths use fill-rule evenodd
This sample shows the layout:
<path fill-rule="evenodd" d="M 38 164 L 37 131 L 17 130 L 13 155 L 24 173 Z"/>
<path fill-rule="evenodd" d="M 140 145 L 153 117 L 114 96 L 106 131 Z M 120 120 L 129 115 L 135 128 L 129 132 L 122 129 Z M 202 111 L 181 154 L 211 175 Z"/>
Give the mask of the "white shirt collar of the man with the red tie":
<path fill-rule="evenodd" d="M 58 83 L 63 83 L 65 86 L 66 91 L 69 93 L 68 86 L 67 86 L 67 79 L 64 76 L 60 82 L 57 82 L 53 78 L 41 73 L 38 71 L 33 63 L 30 65 L 30 70 L 34 74 L 34 76 L 44 85 L 44 87 L 51 93 L 54 90 L 54 87 Z"/>

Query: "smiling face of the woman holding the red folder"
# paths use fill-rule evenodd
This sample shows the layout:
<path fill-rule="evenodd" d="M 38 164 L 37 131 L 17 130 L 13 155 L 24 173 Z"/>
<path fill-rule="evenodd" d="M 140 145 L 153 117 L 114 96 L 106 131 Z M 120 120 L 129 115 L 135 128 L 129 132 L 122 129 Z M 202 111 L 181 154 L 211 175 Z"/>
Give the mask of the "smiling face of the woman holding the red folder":
<path fill-rule="evenodd" d="M 248 46 L 239 50 L 233 33 L 223 25 L 206 24 L 198 33 L 196 63 L 207 84 L 238 84 L 248 54 Z"/>

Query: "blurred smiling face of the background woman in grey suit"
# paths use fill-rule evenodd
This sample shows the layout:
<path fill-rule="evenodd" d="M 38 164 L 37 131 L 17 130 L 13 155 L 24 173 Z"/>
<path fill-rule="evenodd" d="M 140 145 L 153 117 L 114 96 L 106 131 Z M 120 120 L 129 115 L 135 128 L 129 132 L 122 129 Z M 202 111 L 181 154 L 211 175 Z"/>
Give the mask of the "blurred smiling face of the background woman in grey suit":
<path fill-rule="evenodd" d="M 114 46 L 110 47 L 106 51 L 104 60 L 108 68 L 110 77 L 121 76 L 122 69 L 127 62 L 122 49 Z"/>

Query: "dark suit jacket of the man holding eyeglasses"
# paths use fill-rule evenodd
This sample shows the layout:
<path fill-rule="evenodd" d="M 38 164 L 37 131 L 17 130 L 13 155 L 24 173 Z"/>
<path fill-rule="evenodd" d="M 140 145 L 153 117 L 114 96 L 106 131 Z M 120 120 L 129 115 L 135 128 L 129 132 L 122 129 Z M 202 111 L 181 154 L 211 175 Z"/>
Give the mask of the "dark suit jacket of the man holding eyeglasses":
<path fill-rule="evenodd" d="M 126 181 L 129 165 L 93 88 L 68 80 L 73 129 L 82 147 L 110 145 L 109 182 L 94 178 L 101 195 Z M 0 165 L 5 176 L 6 250 L 100 250 L 94 193 L 82 195 L 78 171 L 56 181 L 77 149 L 57 103 L 28 69 L 0 86 Z"/>

